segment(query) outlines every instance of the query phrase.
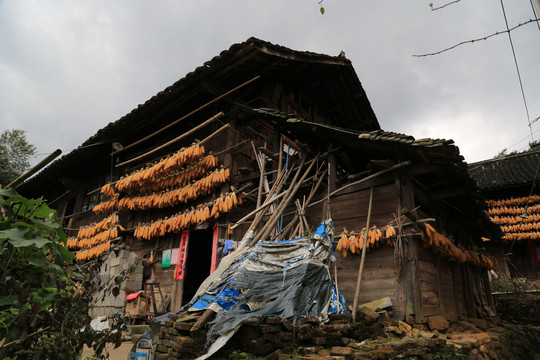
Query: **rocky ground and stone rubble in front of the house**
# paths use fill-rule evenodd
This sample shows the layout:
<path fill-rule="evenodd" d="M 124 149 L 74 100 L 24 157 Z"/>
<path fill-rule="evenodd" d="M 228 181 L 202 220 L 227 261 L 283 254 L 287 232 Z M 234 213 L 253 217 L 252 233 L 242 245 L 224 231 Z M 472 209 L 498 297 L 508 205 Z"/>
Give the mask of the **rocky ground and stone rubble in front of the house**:
<path fill-rule="evenodd" d="M 353 324 L 334 315 L 325 324 L 308 318 L 293 326 L 266 317 L 247 321 L 216 359 L 535 359 L 540 328 L 493 318 L 448 323 L 437 316 L 410 326 L 363 308 Z M 162 328 L 156 360 L 193 359 L 205 331 L 190 332 L 194 319 L 174 316 Z M 540 355 L 536 358 L 540 359 Z"/>

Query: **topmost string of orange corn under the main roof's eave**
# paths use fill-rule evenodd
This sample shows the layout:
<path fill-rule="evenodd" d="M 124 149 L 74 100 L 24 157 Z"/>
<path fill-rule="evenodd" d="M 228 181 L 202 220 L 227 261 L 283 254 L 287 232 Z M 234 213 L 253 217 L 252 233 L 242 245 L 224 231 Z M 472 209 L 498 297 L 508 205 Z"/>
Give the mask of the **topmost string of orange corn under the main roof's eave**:
<path fill-rule="evenodd" d="M 186 165 L 195 163 L 204 153 L 204 146 L 198 143 L 187 148 L 182 148 L 154 165 L 136 170 L 130 175 L 121 178 L 116 182 L 115 187 L 119 191 L 140 188 L 145 183 L 156 181 L 167 173 L 180 170 Z M 215 160 L 209 158 L 206 161 L 212 162 Z"/>

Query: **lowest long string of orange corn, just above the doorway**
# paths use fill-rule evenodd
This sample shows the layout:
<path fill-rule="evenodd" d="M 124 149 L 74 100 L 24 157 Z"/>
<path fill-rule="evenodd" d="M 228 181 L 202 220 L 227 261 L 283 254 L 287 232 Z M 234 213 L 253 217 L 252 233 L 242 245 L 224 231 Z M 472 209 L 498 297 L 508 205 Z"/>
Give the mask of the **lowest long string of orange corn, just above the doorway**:
<path fill-rule="evenodd" d="M 205 222 L 211 217 L 218 218 L 222 213 L 231 211 L 241 203 L 242 200 L 236 193 L 227 193 L 217 198 L 213 203 L 199 204 L 197 208 L 177 213 L 171 217 L 141 224 L 135 228 L 133 235 L 138 239 L 148 240 L 168 233 L 178 233 L 192 225 Z"/>

